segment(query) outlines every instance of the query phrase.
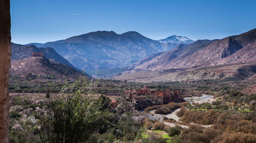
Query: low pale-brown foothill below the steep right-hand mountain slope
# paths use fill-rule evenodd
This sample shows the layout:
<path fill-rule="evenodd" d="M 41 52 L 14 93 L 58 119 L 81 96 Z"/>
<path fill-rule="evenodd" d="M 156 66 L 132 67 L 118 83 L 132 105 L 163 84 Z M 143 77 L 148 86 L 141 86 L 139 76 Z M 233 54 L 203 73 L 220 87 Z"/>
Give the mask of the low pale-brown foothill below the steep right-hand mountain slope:
<path fill-rule="evenodd" d="M 255 81 L 256 64 L 234 64 L 191 69 L 148 70 L 120 74 L 113 79 L 133 82 L 168 82 L 197 80 Z"/>

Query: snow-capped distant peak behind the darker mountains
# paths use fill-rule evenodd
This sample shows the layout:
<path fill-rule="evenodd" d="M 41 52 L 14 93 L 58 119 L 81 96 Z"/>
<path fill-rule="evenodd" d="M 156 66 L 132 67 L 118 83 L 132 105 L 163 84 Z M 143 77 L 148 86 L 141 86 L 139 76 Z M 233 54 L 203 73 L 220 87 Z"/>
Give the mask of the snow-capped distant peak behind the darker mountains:
<path fill-rule="evenodd" d="M 178 44 L 190 44 L 190 43 L 195 42 L 195 40 L 191 40 L 186 37 L 176 36 L 176 35 L 169 36 L 165 39 L 161 39 L 161 40 L 157 40 L 157 41 L 159 41 L 161 43 L 178 43 Z"/>

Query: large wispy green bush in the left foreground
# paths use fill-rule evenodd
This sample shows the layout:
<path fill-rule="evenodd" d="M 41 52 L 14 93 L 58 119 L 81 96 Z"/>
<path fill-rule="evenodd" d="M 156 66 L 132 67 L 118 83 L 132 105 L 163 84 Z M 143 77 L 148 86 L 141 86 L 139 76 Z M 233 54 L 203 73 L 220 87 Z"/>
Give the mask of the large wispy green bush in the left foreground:
<path fill-rule="evenodd" d="M 41 118 L 41 142 L 86 142 L 108 118 L 109 112 L 101 110 L 102 105 L 90 96 L 89 83 L 72 91 L 77 81 L 62 89 L 56 99 L 48 103 L 47 116 Z M 70 94 L 65 94 L 70 91 Z"/>

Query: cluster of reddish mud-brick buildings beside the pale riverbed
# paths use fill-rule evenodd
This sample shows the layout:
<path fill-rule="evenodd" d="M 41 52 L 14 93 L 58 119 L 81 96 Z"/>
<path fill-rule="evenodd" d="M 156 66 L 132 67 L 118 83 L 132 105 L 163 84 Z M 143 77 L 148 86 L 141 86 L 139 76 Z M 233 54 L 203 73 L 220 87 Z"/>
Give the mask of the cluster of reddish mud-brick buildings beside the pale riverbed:
<path fill-rule="evenodd" d="M 169 102 L 183 102 L 181 91 L 169 89 L 165 91 L 155 91 L 144 87 L 139 90 L 125 91 L 127 98 L 131 99 L 137 108 L 145 108 L 155 104 L 167 104 Z M 156 103 L 157 102 L 157 103 Z"/>

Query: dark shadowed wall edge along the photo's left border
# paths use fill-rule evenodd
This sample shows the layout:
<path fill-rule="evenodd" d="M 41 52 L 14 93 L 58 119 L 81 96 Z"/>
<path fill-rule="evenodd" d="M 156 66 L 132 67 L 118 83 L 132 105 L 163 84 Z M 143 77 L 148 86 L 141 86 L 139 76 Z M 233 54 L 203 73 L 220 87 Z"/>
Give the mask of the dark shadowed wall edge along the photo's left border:
<path fill-rule="evenodd" d="M 0 0 L 0 142 L 8 142 L 9 68 L 11 61 L 10 0 Z"/>

